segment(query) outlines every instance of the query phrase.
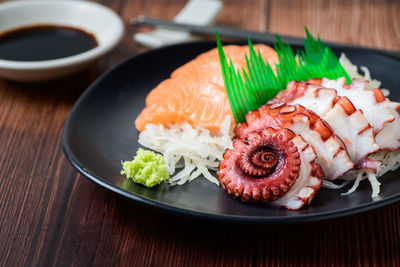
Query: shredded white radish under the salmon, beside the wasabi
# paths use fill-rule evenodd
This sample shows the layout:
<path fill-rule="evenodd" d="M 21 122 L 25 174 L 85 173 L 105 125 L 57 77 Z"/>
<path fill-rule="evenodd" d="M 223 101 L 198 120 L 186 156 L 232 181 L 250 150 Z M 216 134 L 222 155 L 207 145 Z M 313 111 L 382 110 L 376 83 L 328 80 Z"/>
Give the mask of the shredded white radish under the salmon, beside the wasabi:
<path fill-rule="evenodd" d="M 216 136 L 188 123 L 168 128 L 147 124 L 139 134 L 139 144 L 163 154 L 171 175 L 183 168 L 167 181 L 171 185 L 182 185 L 200 175 L 219 184 L 209 170 L 216 171 L 225 150 L 232 147 L 231 118 L 225 118 Z"/>

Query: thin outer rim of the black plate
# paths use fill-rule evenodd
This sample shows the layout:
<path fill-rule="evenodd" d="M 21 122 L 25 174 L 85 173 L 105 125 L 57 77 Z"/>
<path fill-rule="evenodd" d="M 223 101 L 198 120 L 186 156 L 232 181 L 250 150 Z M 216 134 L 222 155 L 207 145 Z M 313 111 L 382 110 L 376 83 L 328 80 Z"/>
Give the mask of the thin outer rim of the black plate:
<path fill-rule="evenodd" d="M 137 55 L 134 55 L 132 57 L 129 57 L 119 64 L 117 64 L 115 67 L 112 69 L 108 70 L 105 72 L 103 75 L 101 75 L 95 82 L 93 82 L 89 88 L 79 97 L 79 99 L 76 101 L 74 106 L 72 107 L 68 118 L 65 121 L 64 124 L 64 130 L 62 134 L 62 146 L 64 150 L 64 154 L 68 161 L 71 163 L 71 165 L 76 168 L 82 175 L 84 175 L 86 178 L 89 180 L 93 181 L 94 183 L 98 184 L 99 186 L 114 192 L 118 195 L 121 195 L 123 197 L 126 197 L 128 199 L 134 200 L 136 202 L 149 205 L 155 208 L 159 208 L 162 210 L 166 210 L 172 213 L 178 213 L 182 215 L 189 215 L 193 217 L 199 217 L 199 218 L 205 218 L 205 219 L 212 219 L 212 220 L 218 220 L 218 221 L 224 221 L 224 222 L 249 222 L 249 223 L 298 223 L 298 222 L 313 222 L 313 221 L 321 221 L 321 220 L 327 220 L 327 219 L 332 219 L 332 218 L 339 218 L 339 217 L 344 217 L 347 215 L 354 215 L 358 213 L 362 213 L 368 210 L 376 209 L 379 207 L 383 207 L 392 203 L 395 203 L 397 201 L 400 201 L 400 193 L 393 195 L 391 197 L 388 197 L 383 200 L 377 200 L 377 201 L 371 201 L 370 203 L 367 204 L 362 204 L 357 207 L 353 208 L 344 208 L 341 210 L 333 210 L 333 211 L 327 211 L 323 213 L 318 213 L 318 214 L 305 214 L 305 215 L 293 215 L 293 216 L 274 216 L 274 217 L 264 217 L 264 216 L 240 216 L 240 215 L 221 215 L 221 214 L 213 214 L 213 213 L 207 213 L 207 212 L 202 212 L 202 211 L 195 211 L 191 209 L 184 209 L 180 207 L 176 207 L 173 205 L 167 205 L 163 202 L 156 201 L 156 200 L 150 200 L 135 194 L 132 194 L 128 191 L 125 191 L 121 188 L 115 187 L 111 183 L 107 182 L 104 180 L 102 177 L 97 176 L 90 171 L 86 170 L 83 164 L 79 162 L 79 160 L 74 156 L 74 154 L 71 151 L 71 148 L 69 147 L 69 143 L 67 140 L 67 132 L 69 132 L 69 125 L 70 125 L 70 120 L 73 117 L 74 113 L 76 113 L 77 107 L 80 105 L 81 102 L 84 101 L 87 97 L 90 96 L 90 94 L 93 93 L 93 91 L 96 89 L 97 84 L 101 83 L 105 77 L 108 75 L 112 74 L 113 72 L 117 72 L 118 69 L 123 67 L 125 64 L 127 64 L 128 61 L 135 60 L 136 58 L 140 57 L 146 57 L 148 54 L 152 54 L 154 52 L 161 52 L 163 50 L 168 50 L 173 47 L 177 46 L 184 46 L 184 45 L 201 45 L 201 44 L 210 44 L 210 41 L 197 41 L 197 42 L 187 42 L 183 44 L 175 44 L 175 45 L 169 45 L 169 46 L 164 46 L 161 48 L 157 49 L 152 49 L 143 53 L 139 53 Z M 336 47 L 335 47 L 336 48 Z M 346 47 L 349 49 L 348 47 Z M 340 48 L 339 48 L 340 49 Z M 355 48 L 355 50 L 358 50 Z M 368 51 L 370 49 L 368 48 L 359 48 L 359 50 L 365 50 Z M 373 51 L 373 50 L 371 50 Z M 376 51 L 374 51 L 377 53 Z M 386 54 L 382 54 L 382 56 L 394 58 L 391 56 L 388 56 Z"/>

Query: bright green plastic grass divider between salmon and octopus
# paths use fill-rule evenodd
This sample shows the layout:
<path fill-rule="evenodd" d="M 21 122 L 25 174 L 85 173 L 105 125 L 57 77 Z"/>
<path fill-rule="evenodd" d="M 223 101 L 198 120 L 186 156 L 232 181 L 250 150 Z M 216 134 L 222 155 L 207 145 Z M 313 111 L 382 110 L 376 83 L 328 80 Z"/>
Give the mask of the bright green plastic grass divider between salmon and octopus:
<path fill-rule="evenodd" d="M 346 77 L 346 82 L 351 83 L 349 75 L 332 50 L 319 37 L 314 39 L 307 28 L 305 31 L 304 50 L 297 51 L 296 55 L 290 45 L 284 44 L 276 35 L 277 43 L 274 47 L 279 59 L 276 74 L 260 51 L 257 53 L 254 50 L 250 39 L 250 53 L 246 55 L 247 71 L 244 68 L 236 70 L 231 60 L 228 64 L 221 40 L 216 34 L 226 94 L 236 123 L 245 121 L 246 113 L 264 105 L 285 89 L 290 81 Z"/>

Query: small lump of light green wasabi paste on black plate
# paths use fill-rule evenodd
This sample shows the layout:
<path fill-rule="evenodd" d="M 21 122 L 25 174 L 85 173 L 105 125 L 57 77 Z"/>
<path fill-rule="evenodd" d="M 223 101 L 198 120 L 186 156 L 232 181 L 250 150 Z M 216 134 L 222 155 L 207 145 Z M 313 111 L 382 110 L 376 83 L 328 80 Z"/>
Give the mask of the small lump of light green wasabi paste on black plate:
<path fill-rule="evenodd" d="M 146 187 L 153 187 L 169 178 L 163 156 L 142 148 L 133 160 L 122 162 L 122 168 L 121 174 Z"/>

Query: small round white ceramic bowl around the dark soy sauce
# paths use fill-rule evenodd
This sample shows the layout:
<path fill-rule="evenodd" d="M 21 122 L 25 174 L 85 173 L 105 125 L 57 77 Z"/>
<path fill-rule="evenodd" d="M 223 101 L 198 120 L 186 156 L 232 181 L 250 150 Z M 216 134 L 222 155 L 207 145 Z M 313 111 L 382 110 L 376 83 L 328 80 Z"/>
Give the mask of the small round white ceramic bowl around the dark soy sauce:
<path fill-rule="evenodd" d="M 70 26 L 94 34 L 98 46 L 70 57 L 43 61 L 0 59 L 0 77 L 15 81 L 60 78 L 88 67 L 114 48 L 122 38 L 120 17 L 100 4 L 79 0 L 23 0 L 0 4 L 0 34 L 29 25 Z"/>

